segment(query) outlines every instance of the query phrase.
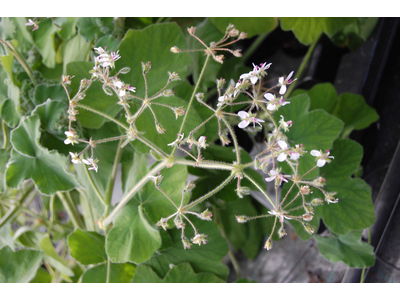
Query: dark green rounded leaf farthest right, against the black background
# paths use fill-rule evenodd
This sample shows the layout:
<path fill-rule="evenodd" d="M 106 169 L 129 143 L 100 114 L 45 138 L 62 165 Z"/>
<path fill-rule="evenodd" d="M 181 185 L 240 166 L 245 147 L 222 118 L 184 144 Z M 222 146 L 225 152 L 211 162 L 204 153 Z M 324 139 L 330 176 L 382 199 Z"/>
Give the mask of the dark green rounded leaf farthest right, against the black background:
<path fill-rule="evenodd" d="M 340 95 L 335 116 L 344 122 L 343 137 L 348 136 L 353 129 L 367 128 L 379 120 L 375 109 L 368 106 L 363 96 L 350 93 Z"/>

